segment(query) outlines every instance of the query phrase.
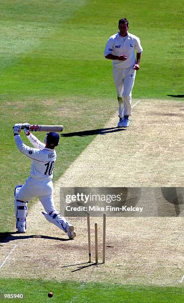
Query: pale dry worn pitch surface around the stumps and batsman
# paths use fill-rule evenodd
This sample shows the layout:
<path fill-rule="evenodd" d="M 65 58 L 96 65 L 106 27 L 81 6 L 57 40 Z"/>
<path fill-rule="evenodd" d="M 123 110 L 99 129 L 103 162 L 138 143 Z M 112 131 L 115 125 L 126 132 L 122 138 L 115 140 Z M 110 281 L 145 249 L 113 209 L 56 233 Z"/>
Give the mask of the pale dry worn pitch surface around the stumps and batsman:
<path fill-rule="evenodd" d="M 179 101 L 140 101 L 128 129 L 98 135 L 58 180 L 54 186 L 57 209 L 62 186 L 182 187 L 182 110 Z M 106 128 L 116 123 L 114 116 Z M 17 244 L 0 269 L 1 277 L 182 285 L 183 210 L 178 217 L 108 217 L 106 263 L 91 265 L 87 263 L 87 219 L 70 218 L 77 232 L 71 241 L 42 217 L 42 209 L 40 202 L 29 209 L 27 234 L 12 233 L 1 244 L 0 264 Z M 101 262 L 102 218 L 91 218 L 93 261 L 94 222 Z"/>

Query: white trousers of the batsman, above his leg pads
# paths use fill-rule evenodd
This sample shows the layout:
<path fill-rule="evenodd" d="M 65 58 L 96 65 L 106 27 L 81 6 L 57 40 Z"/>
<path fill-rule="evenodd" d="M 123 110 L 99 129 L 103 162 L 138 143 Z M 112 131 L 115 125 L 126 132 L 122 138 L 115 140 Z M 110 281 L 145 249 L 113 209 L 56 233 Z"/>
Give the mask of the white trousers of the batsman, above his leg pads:
<path fill-rule="evenodd" d="M 53 183 L 51 180 L 42 181 L 29 177 L 17 195 L 17 199 L 21 201 L 30 201 L 37 197 L 42 202 L 47 213 L 56 211 L 53 201 Z"/>

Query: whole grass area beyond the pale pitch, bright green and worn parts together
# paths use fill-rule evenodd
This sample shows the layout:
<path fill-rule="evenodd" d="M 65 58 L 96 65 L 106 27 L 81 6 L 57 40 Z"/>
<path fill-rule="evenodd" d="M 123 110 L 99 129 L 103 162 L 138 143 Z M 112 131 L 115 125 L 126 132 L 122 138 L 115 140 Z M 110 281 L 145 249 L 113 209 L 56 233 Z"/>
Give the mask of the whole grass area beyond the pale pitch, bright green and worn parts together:
<path fill-rule="evenodd" d="M 181 1 L 125 3 L 130 32 L 143 46 L 133 98 L 184 94 Z M 13 188 L 30 170 L 30 161 L 16 150 L 13 124 L 63 124 L 64 133 L 84 131 L 102 128 L 117 111 L 112 62 L 103 50 L 117 32 L 124 3 L 0 0 L 0 7 L 0 230 L 5 232 L 14 228 Z M 54 180 L 93 139 L 62 137 Z"/>

